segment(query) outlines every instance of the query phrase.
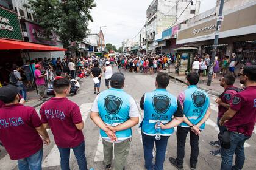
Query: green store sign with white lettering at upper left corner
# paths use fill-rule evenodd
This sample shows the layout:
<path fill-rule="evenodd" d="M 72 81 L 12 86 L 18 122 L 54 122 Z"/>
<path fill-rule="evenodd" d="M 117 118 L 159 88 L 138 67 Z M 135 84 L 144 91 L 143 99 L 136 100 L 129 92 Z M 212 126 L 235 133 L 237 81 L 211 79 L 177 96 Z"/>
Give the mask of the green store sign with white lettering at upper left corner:
<path fill-rule="evenodd" d="M 17 14 L 2 7 L 0 7 L 0 38 L 23 41 Z"/>

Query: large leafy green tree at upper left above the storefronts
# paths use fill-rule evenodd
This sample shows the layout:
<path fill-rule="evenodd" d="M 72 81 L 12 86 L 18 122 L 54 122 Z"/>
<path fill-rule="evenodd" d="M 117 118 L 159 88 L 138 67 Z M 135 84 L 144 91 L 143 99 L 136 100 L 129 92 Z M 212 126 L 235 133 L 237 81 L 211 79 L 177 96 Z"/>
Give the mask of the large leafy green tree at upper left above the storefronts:
<path fill-rule="evenodd" d="M 56 32 L 63 46 L 81 42 L 88 33 L 88 21 L 93 22 L 90 10 L 96 7 L 94 0 L 29 0 L 46 35 Z"/>

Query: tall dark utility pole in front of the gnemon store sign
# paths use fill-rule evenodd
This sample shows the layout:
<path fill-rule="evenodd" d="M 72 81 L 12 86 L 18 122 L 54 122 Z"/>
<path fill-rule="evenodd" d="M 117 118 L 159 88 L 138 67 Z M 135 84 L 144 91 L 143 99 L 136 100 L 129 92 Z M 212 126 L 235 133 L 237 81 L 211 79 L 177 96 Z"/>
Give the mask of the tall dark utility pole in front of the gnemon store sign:
<path fill-rule="evenodd" d="M 223 21 L 223 16 L 222 16 L 223 6 L 224 6 L 224 0 L 221 0 L 221 5 L 219 6 L 219 16 L 216 24 L 215 39 L 213 43 L 211 65 L 208 72 L 207 86 L 211 86 L 211 82 L 212 82 L 213 67 L 214 67 L 215 55 L 216 55 L 216 50 L 217 50 L 217 45 L 219 40 L 219 31 L 221 30 L 221 22 Z"/>

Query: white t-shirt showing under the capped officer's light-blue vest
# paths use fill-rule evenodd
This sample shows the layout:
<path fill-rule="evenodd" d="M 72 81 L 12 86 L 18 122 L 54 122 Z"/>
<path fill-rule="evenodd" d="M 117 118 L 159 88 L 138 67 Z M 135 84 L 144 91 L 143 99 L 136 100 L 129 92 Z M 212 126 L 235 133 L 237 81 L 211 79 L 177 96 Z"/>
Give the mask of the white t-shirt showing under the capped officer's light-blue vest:
<path fill-rule="evenodd" d="M 99 95 L 97 95 L 97 97 L 93 101 L 93 107 L 91 107 L 91 112 L 99 113 L 98 97 L 99 97 Z M 132 97 L 130 98 L 129 106 L 130 106 L 129 117 L 139 117 L 140 113 L 139 113 L 137 104 L 136 104 L 135 100 Z M 104 140 L 113 143 L 111 140 L 108 140 L 108 139 L 105 139 L 105 138 L 104 138 Z M 124 140 L 117 140 L 114 143 L 120 143 L 122 141 L 124 141 Z"/>

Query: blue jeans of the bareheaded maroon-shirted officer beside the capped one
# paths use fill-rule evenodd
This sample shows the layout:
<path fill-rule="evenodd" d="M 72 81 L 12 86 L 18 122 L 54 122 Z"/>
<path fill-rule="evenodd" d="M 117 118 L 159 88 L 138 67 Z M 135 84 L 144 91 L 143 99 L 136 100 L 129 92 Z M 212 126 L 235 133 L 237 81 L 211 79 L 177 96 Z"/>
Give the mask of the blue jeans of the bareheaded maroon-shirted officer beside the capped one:
<path fill-rule="evenodd" d="M 69 167 L 69 157 L 70 157 L 70 149 L 73 149 L 74 155 L 77 160 L 77 164 L 80 170 L 87 170 L 87 161 L 85 157 L 85 141 L 82 141 L 79 146 L 74 148 L 60 148 L 58 146 L 60 152 L 60 167 L 62 170 L 70 170 Z"/>

